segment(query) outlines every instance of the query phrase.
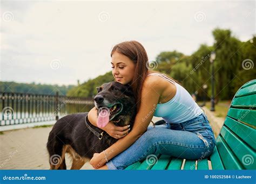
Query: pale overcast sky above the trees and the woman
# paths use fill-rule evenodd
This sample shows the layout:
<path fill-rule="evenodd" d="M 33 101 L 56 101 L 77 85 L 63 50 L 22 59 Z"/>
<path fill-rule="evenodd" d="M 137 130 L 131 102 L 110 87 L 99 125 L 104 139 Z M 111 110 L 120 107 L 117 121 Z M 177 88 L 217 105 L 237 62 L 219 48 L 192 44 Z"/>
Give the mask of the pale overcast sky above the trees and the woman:
<path fill-rule="evenodd" d="M 254 1 L 2 1 L 1 81 L 76 84 L 111 70 L 111 48 L 142 43 L 153 60 L 213 44 L 212 30 L 255 34 Z"/>

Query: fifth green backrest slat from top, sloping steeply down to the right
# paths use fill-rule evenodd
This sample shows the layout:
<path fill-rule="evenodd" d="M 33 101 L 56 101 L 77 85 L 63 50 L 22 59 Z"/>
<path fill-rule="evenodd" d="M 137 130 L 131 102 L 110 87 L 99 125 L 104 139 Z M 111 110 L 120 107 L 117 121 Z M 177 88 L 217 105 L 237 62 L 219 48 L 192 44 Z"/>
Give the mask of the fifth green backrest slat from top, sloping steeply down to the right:
<path fill-rule="evenodd" d="M 225 125 L 231 129 L 238 137 L 250 145 L 256 151 L 256 130 L 243 123 L 235 121 L 230 117 L 226 117 Z"/>

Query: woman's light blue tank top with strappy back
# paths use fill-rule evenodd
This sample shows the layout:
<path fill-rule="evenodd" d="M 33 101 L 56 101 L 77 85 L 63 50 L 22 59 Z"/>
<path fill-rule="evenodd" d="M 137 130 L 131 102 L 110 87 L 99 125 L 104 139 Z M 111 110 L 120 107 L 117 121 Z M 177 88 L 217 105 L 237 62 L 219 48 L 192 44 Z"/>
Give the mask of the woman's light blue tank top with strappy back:
<path fill-rule="evenodd" d="M 166 123 L 183 123 L 203 113 L 203 110 L 193 100 L 188 91 L 165 74 L 151 73 L 171 82 L 176 86 L 176 94 L 166 103 L 158 103 L 154 116 L 162 117 Z M 147 75 L 147 76 L 149 76 Z"/>

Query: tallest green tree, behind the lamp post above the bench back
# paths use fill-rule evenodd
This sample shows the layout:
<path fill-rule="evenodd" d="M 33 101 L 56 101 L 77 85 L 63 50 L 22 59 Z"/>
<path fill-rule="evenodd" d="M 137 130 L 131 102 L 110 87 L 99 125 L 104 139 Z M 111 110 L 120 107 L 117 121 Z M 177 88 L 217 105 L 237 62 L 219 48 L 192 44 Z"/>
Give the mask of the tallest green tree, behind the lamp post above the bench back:
<path fill-rule="evenodd" d="M 216 95 L 217 98 L 230 99 L 234 96 L 233 91 L 236 91 L 231 82 L 239 71 L 241 42 L 232 37 L 230 30 L 217 28 L 212 33 L 215 40 L 213 47 L 216 52 L 216 59 L 214 60 L 217 71 L 215 77 Z"/>

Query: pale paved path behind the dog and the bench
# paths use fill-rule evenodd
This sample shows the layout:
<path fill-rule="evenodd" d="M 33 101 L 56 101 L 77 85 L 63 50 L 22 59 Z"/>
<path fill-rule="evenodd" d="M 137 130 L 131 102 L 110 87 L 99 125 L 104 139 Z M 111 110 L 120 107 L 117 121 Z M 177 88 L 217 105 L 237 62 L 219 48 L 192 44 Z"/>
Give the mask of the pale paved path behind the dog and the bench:
<path fill-rule="evenodd" d="M 214 117 L 214 114 L 207 108 L 204 110 L 218 135 L 224 118 Z M 153 122 L 159 119 L 161 118 L 154 117 Z M 46 143 L 51 129 L 52 126 L 5 131 L 0 135 L 0 169 L 49 169 Z M 67 155 L 65 159 L 69 169 L 70 159 Z M 93 168 L 89 162 L 86 162 L 82 169 Z"/>

